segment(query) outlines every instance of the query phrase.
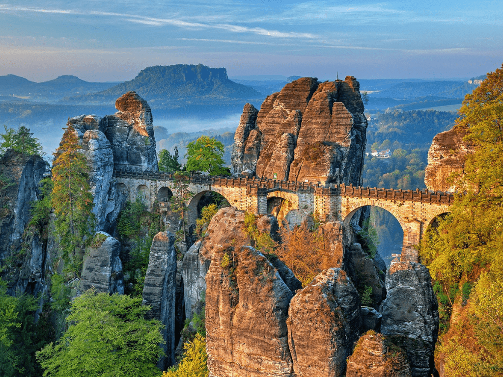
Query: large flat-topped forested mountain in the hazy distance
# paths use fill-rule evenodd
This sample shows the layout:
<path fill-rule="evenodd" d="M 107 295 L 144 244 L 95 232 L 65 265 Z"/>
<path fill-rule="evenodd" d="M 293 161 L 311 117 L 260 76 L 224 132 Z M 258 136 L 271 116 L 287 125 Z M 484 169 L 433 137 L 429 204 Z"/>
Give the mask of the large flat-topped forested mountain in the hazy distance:
<path fill-rule="evenodd" d="M 152 109 L 187 105 L 234 105 L 263 99 L 257 90 L 231 81 L 225 68 L 203 64 L 156 65 L 141 70 L 130 80 L 86 96 L 66 98 L 64 103 L 113 103 L 129 90 L 136 91 Z"/>

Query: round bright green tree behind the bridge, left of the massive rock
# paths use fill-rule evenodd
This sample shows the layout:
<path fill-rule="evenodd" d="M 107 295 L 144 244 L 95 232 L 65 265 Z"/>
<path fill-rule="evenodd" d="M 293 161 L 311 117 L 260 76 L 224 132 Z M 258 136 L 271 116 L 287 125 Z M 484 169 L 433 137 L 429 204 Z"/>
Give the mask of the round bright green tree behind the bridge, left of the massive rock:
<path fill-rule="evenodd" d="M 187 144 L 187 171 L 205 171 L 210 175 L 229 175 L 224 167 L 223 144 L 215 138 L 201 136 Z"/>

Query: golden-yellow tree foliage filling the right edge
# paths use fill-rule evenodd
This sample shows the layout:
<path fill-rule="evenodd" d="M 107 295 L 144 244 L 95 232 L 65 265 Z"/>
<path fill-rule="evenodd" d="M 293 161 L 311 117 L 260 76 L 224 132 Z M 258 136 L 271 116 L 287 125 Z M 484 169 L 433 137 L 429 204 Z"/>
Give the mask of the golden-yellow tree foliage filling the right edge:
<path fill-rule="evenodd" d="M 440 339 L 446 376 L 503 372 L 503 66 L 467 95 L 456 128 L 475 146 L 464 174 L 466 192 L 432 228 L 421 248 L 448 316 L 456 325 Z M 466 282 L 474 282 L 471 290 Z M 438 283 L 438 284 L 437 284 Z M 466 295 L 469 300 L 465 300 Z M 447 300 L 445 300 L 446 298 Z M 445 321 L 448 325 L 448 321 Z M 470 334 L 470 336 L 466 336 Z"/>

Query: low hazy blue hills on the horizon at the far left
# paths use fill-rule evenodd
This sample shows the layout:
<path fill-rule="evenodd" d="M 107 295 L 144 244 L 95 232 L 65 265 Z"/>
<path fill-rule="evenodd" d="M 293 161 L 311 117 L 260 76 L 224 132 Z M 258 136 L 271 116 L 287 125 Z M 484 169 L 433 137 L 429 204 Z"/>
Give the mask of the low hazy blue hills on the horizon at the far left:
<path fill-rule="evenodd" d="M 30 81 L 8 74 L 0 76 L 0 96 L 28 97 L 36 101 L 57 101 L 62 97 L 92 93 L 114 85 L 113 82 L 88 82 L 77 76 L 63 75 L 44 82 Z"/>

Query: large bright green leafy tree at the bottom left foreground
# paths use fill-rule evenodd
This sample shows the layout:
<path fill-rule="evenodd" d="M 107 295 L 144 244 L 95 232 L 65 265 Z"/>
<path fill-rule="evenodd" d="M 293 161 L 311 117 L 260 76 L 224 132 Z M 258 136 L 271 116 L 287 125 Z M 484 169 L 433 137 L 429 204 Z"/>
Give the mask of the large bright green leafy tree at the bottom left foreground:
<path fill-rule="evenodd" d="M 144 318 L 150 307 L 141 301 L 94 290 L 75 298 L 68 330 L 56 344 L 37 352 L 44 376 L 158 375 L 162 324 Z"/>

